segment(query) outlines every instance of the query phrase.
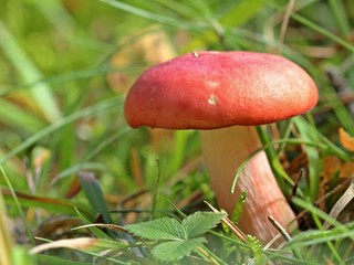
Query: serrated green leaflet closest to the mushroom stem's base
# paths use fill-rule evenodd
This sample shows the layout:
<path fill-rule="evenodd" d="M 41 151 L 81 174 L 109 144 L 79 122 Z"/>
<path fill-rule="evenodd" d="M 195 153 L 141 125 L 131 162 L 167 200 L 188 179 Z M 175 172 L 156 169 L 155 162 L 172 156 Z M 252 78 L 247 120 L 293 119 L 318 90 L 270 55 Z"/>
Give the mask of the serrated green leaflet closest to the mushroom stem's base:
<path fill-rule="evenodd" d="M 187 233 L 187 239 L 192 239 L 215 227 L 225 216 L 226 213 L 196 212 L 184 219 L 181 225 Z"/>

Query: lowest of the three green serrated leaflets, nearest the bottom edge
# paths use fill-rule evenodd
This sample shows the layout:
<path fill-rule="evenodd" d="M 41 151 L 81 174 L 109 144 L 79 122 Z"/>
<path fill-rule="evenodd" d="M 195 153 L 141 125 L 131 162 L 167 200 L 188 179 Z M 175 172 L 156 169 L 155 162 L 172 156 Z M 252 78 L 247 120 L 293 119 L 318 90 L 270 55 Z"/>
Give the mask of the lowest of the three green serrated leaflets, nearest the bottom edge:
<path fill-rule="evenodd" d="M 202 246 L 206 240 L 197 237 L 188 241 L 173 241 L 158 244 L 153 248 L 153 255 L 163 262 L 170 262 L 180 259 L 181 257 L 190 254 L 197 247 Z"/>

